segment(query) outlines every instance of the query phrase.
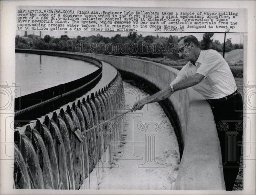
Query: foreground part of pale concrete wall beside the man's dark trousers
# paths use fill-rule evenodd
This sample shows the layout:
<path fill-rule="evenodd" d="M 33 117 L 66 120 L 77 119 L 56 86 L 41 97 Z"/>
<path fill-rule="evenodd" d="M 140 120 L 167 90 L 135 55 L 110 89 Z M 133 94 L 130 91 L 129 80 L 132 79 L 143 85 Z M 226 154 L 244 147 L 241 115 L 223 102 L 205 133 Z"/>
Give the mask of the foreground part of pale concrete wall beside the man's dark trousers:
<path fill-rule="evenodd" d="M 183 158 L 174 190 L 225 190 L 220 144 L 208 102 L 189 88 L 189 111 Z"/>

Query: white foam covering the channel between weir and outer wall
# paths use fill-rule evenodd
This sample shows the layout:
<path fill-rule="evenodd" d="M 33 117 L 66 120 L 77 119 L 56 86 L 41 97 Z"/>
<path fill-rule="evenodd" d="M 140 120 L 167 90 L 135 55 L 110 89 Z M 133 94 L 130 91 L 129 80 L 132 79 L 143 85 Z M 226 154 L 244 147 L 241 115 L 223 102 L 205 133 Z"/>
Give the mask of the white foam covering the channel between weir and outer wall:
<path fill-rule="evenodd" d="M 124 83 L 124 92 L 126 106 L 129 107 L 137 98 L 138 88 Z M 146 94 L 140 90 L 139 96 L 145 97 Z M 104 172 L 103 168 L 99 168 L 103 172 L 99 184 L 94 168 L 90 174 L 90 189 L 173 189 L 180 162 L 179 148 L 173 127 L 163 109 L 157 102 L 150 103 L 142 110 L 126 114 L 123 119 L 124 132 L 120 136 L 125 144 L 119 146 L 121 153 L 116 153 L 115 164 L 104 163 Z M 157 148 L 157 154 L 147 152 L 147 147 Z M 105 155 L 107 153 L 108 150 Z M 147 163 L 146 153 L 149 157 Z M 98 167 L 102 167 L 102 162 Z M 88 178 L 81 189 L 88 189 Z"/>

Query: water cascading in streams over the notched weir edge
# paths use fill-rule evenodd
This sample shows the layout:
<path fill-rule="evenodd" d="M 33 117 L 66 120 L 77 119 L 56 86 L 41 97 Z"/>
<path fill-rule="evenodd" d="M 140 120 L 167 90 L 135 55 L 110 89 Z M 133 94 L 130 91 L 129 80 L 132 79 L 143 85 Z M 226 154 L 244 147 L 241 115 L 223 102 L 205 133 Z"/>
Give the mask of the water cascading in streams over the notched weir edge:
<path fill-rule="evenodd" d="M 27 125 L 24 133 L 15 132 L 14 187 L 18 189 L 79 189 L 82 185 L 90 188 L 89 173 L 95 167 L 97 183 L 103 174 L 104 163 L 114 164 L 114 153 L 118 152 L 120 142 L 119 119 L 105 125 L 97 125 L 115 116 L 120 98 L 114 90 L 122 88 L 120 74 L 107 87 L 91 97 L 78 100 L 52 114 L 45 116 L 44 122 L 36 121 Z M 121 90 L 122 93 L 122 90 Z M 114 103 L 115 102 L 115 103 Z M 119 109 L 119 111 L 121 111 Z M 82 143 L 74 135 L 96 125 L 86 132 Z M 112 147 L 113 146 L 113 147 Z M 107 158 L 104 156 L 108 153 Z M 111 157 L 111 158 L 109 158 Z M 101 161 L 103 166 L 100 167 Z M 101 165 L 102 165 L 101 163 Z M 89 178 L 89 185 L 85 179 Z"/>

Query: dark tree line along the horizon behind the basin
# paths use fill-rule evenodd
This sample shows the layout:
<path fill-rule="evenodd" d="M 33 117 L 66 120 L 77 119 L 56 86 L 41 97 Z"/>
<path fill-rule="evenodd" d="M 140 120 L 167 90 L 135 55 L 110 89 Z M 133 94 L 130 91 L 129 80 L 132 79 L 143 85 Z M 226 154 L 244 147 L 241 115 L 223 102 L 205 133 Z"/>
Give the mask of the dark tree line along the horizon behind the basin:
<path fill-rule="evenodd" d="M 215 49 L 219 52 L 223 52 L 224 43 L 220 43 L 218 40 L 213 40 L 211 37 L 214 33 L 205 33 L 203 39 L 200 41 L 200 48 L 202 50 Z M 80 41 L 80 42 L 79 42 Z M 168 57 L 172 59 L 178 59 L 178 54 L 176 52 L 164 52 L 164 48 L 168 47 L 168 51 L 173 51 L 175 49 L 175 44 L 178 43 L 178 36 L 170 35 L 169 37 L 159 37 L 157 36 L 142 36 L 138 35 L 136 32 L 130 32 L 127 36 L 121 36 L 116 34 L 113 37 L 104 37 L 100 34 L 96 36 L 77 36 L 76 38 L 70 38 L 67 35 L 61 35 L 60 38 L 51 37 L 45 35 L 44 38 L 39 36 L 28 35 L 27 37 L 20 37 L 16 35 L 15 37 L 15 48 L 19 49 L 42 49 L 42 50 L 56 50 L 56 51 L 74 51 L 81 52 L 79 47 L 73 48 L 75 46 L 80 46 L 83 44 L 83 51 L 85 53 L 91 53 L 92 51 L 100 54 L 106 55 L 116 55 L 116 56 L 140 56 L 140 57 Z M 97 44 L 95 48 L 91 44 Z M 117 48 L 106 50 L 106 48 L 98 48 L 102 44 L 112 44 L 114 47 L 124 46 L 125 53 L 117 52 Z M 134 44 L 140 44 L 140 49 L 144 52 L 134 52 L 132 46 Z M 147 50 L 150 48 L 150 50 Z M 231 38 L 226 40 L 225 51 L 231 51 L 234 49 L 243 49 L 243 44 L 232 44 Z"/>

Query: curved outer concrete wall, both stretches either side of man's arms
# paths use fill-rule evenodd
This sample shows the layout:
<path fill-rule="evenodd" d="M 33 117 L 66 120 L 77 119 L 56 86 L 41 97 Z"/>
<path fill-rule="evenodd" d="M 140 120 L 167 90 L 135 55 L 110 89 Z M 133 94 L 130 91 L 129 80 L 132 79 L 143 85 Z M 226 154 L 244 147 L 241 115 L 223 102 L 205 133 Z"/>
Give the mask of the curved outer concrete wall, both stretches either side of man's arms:
<path fill-rule="evenodd" d="M 178 70 L 134 58 L 84 54 L 106 61 L 121 72 L 137 75 L 159 89 L 168 87 Z M 225 190 L 221 151 L 214 118 L 208 102 L 192 88 L 175 92 L 168 98 L 169 108 L 177 115 L 176 135 L 181 137 L 182 159 L 175 183 L 176 190 Z M 168 108 L 167 108 L 168 109 Z"/>

